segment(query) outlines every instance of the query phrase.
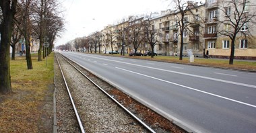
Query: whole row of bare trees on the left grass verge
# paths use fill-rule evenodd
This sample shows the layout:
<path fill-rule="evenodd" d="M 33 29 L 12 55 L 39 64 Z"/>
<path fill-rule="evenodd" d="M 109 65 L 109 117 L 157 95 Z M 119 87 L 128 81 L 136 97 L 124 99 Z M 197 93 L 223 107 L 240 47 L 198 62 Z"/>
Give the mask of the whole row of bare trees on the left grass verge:
<path fill-rule="evenodd" d="M 54 42 L 64 29 L 61 4 L 57 0 L 1 0 L 0 1 L 0 93 L 11 93 L 11 60 L 15 60 L 15 47 L 23 42 L 27 69 L 33 69 L 31 42 L 39 42 L 38 61 L 50 54 Z M 44 46 L 49 43 L 49 48 Z"/>

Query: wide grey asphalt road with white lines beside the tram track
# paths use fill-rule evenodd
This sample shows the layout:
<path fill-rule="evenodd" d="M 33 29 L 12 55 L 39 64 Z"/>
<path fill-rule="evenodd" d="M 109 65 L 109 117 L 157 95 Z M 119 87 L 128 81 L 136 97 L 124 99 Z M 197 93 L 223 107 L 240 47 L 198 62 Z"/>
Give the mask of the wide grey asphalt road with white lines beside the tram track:
<path fill-rule="evenodd" d="M 256 132 L 256 74 L 61 52 L 193 132 Z"/>

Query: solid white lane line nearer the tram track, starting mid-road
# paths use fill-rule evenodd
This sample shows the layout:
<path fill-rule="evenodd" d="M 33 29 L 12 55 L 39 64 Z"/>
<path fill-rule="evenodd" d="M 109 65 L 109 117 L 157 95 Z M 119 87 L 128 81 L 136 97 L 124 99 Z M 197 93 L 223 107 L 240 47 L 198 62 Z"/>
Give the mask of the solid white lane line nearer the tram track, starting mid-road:
<path fill-rule="evenodd" d="M 243 101 L 237 101 L 237 100 L 235 100 L 235 99 L 230 99 L 230 98 L 228 98 L 228 97 L 223 97 L 223 96 L 221 96 L 221 95 L 216 95 L 216 94 L 214 94 L 214 93 L 208 93 L 208 92 L 206 92 L 206 91 L 201 91 L 201 90 L 199 90 L 199 89 L 195 89 L 195 88 L 192 88 L 192 87 L 187 87 L 187 86 L 185 86 L 185 85 L 181 85 L 181 84 L 178 84 L 178 83 L 173 83 L 173 82 L 170 82 L 170 81 L 165 81 L 165 80 L 163 80 L 163 79 L 158 79 L 158 78 L 156 78 L 156 77 L 151 77 L 151 76 L 148 76 L 148 75 L 143 75 L 143 74 L 141 74 L 141 73 L 129 71 L 129 70 L 127 70 L 127 69 L 121 69 L 121 68 L 119 68 L 119 67 L 115 67 L 115 68 L 116 68 L 116 69 L 123 70 L 123 71 L 127 71 L 127 72 L 129 72 L 129 73 L 135 73 L 135 74 L 141 75 L 141 76 L 143 76 L 143 77 L 148 77 L 148 78 L 151 78 L 151 79 L 156 79 L 156 80 L 158 80 L 158 81 L 163 81 L 163 82 L 166 82 L 166 83 L 170 83 L 170 84 L 172 84 L 172 85 L 177 85 L 177 86 L 179 86 L 179 87 L 184 87 L 184 88 L 187 88 L 187 89 L 191 89 L 191 90 L 193 90 L 193 91 L 198 91 L 198 92 L 201 92 L 201 93 L 205 93 L 205 94 L 208 94 L 208 95 L 212 95 L 212 96 L 214 96 L 214 97 L 220 97 L 220 98 L 222 98 L 222 99 L 227 99 L 227 100 L 229 100 L 229 101 L 234 101 L 234 102 L 236 102 L 236 103 L 241 103 L 241 104 L 243 104 L 243 105 L 248 105 L 248 106 L 250 106 L 250 107 L 255 107 L 255 108 L 256 108 L 256 105 L 252 105 L 252 104 L 249 104 L 249 103 L 245 103 L 245 102 L 243 102 Z"/>

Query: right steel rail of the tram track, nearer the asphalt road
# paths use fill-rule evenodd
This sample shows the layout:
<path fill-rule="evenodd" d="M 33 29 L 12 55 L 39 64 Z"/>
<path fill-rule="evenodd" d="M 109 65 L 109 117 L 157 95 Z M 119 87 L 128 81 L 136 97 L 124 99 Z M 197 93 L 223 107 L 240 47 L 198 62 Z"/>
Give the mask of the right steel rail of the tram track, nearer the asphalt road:
<path fill-rule="evenodd" d="M 64 56 L 63 54 L 61 54 L 61 56 L 65 57 L 64 59 L 69 62 L 69 60 L 71 60 L 69 58 L 69 60 L 67 60 L 66 56 Z M 71 60 L 73 61 L 73 60 Z M 73 61 L 75 62 L 75 61 Z M 69 62 L 69 64 L 71 64 L 71 62 Z M 76 63 L 77 64 L 77 63 Z M 79 64 L 77 64 L 79 65 Z M 92 81 L 92 79 L 90 79 L 88 76 L 86 76 L 84 73 L 82 73 L 82 71 L 80 71 L 79 69 L 77 69 L 77 67 L 75 67 L 73 64 L 71 64 L 71 66 L 73 66 L 77 71 L 79 71 L 79 73 L 81 73 L 82 75 L 84 75 L 84 77 L 86 77 L 89 81 L 91 81 L 96 87 L 98 87 L 98 89 L 100 89 L 100 91 L 102 91 L 105 95 L 107 95 L 110 99 L 112 99 L 113 101 L 115 101 L 115 103 L 117 103 L 117 105 L 119 105 L 122 109 L 125 110 L 125 112 L 127 112 L 130 116 L 132 116 L 135 120 L 137 120 L 137 122 L 139 122 L 139 124 L 141 124 L 142 126 L 144 126 L 148 131 L 152 132 L 152 133 L 156 133 L 152 128 L 150 128 L 150 126 L 148 126 L 147 124 L 145 124 L 144 122 L 142 122 L 139 118 L 137 118 L 137 116 L 135 116 L 133 113 L 131 113 L 129 111 L 129 109 L 127 109 L 126 107 L 124 107 L 121 103 L 119 103 L 119 101 L 117 101 L 115 98 L 113 98 L 111 95 L 109 95 L 106 91 L 104 91 L 104 89 L 102 89 L 99 85 L 97 85 L 94 81 Z M 80 66 L 80 65 L 79 65 Z"/>

